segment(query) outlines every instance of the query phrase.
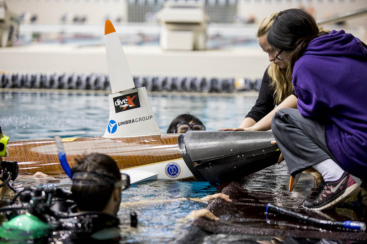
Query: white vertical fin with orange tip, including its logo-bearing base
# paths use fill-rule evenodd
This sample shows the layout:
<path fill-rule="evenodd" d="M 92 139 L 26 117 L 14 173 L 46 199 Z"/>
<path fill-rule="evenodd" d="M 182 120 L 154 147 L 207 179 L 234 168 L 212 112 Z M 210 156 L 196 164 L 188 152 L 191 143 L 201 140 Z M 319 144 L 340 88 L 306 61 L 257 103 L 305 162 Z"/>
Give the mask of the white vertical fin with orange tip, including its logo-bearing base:
<path fill-rule="evenodd" d="M 110 117 L 103 137 L 159 135 L 146 89 L 133 89 L 134 81 L 120 39 L 109 20 L 105 23 L 105 45 L 112 94 L 108 96 Z"/>

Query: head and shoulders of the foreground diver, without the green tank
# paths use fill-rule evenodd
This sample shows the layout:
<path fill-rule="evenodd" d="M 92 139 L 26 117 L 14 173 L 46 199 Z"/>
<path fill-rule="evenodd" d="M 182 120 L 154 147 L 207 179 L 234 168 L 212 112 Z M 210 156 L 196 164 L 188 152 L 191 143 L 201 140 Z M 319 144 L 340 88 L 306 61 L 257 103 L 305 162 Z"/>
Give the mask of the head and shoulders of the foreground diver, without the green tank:
<path fill-rule="evenodd" d="M 72 231 L 71 238 L 99 239 L 99 235 L 108 232 L 109 239 L 119 239 L 120 222 L 116 215 L 121 202 L 121 191 L 130 186 L 128 176 L 120 173 L 115 160 L 110 156 L 91 153 L 80 160 L 75 159 L 72 181 L 72 199 L 76 205 L 70 210 L 82 215 L 77 219 L 66 219 L 62 224 L 78 226 Z"/>

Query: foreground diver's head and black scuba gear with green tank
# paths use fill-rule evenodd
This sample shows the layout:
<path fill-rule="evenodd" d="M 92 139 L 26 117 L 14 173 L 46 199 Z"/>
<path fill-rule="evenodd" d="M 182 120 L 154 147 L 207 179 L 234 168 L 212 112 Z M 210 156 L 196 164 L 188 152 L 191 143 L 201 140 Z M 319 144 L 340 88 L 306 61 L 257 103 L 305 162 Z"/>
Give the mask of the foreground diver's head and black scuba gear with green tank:
<path fill-rule="evenodd" d="M 72 240 L 92 240 L 106 233 L 108 239 L 120 238 L 116 214 L 121 191 L 130 186 L 129 177 L 120 173 L 115 160 L 108 155 L 92 153 L 75 161 L 72 194 L 58 188 L 31 187 L 20 191 L 15 198 L 19 196 L 22 203 L 28 204 L 1 208 L 10 214 L 7 214 L 9 221 L 0 228 L 0 239 L 64 239 L 66 236 Z M 28 213 L 24 214 L 24 210 Z M 14 222 L 20 223 L 15 229 Z M 22 231 L 32 234 L 28 237 L 15 234 Z"/>

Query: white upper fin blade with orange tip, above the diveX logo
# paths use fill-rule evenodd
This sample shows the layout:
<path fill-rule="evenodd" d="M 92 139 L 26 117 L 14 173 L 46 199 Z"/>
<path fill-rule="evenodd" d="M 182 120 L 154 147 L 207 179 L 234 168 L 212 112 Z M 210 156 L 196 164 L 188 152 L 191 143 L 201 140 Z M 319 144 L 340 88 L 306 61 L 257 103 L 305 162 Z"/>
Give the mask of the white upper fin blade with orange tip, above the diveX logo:
<path fill-rule="evenodd" d="M 110 20 L 105 22 L 105 44 L 112 94 L 135 88 L 120 39 Z"/>

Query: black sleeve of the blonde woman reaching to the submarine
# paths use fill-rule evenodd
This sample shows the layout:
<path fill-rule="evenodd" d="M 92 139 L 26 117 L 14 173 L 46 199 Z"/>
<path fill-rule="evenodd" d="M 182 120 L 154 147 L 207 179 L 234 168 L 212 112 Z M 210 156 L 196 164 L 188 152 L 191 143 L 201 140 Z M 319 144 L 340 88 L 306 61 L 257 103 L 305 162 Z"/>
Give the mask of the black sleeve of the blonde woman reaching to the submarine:
<path fill-rule="evenodd" d="M 274 107 L 273 89 L 270 87 L 270 77 L 268 69 L 266 69 L 262 78 L 259 96 L 251 111 L 246 115 L 246 118 L 250 117 L 257 122 L 272 111 Z"/>

